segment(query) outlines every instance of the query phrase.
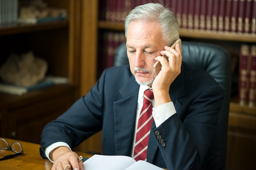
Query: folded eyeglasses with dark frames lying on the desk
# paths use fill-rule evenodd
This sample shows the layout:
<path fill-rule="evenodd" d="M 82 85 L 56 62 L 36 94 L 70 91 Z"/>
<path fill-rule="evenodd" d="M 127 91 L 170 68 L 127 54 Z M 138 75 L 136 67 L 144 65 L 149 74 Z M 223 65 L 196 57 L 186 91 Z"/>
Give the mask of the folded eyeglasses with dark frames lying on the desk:
<path fill-rule="evenodd" d="M 6 155 L 5 157 L 0 158 L 0 161 L 17 157 L 23 154 L 23 149 L 19 142 L 13 142 L 11 146 L 9 146 L 8 142 L 3 138 L 0 138 L 0 149 L 4 149 L 4 150 L 10 149 L 11 151 L 15 152 L 15 154 Z"/>

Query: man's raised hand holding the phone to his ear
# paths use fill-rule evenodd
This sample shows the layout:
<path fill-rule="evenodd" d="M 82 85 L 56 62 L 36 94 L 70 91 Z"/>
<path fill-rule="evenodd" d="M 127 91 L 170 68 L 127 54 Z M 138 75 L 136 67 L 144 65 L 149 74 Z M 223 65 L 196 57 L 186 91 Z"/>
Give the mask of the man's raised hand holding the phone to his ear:
<path fill-rule="evenodd" d="M 179 44 L 176 44 L 175 49 L 164 46 L 164 50 L 161 51 L 160 54 L 166 55 L 169 62 L 162 56 L 155 57 L 155 60 L 160 61 L 162 65 L 161 71 L 152 84 L 156 106 L 171 102 L 169 88 L 171 83 L 173 83 L 175 78 L 180 74 L 182 64 Z"/>

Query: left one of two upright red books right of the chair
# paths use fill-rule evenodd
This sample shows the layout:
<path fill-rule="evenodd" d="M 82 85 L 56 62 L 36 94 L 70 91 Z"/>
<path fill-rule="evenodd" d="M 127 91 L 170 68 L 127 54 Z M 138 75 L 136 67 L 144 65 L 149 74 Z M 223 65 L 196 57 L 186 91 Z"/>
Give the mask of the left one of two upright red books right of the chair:
<path fill-rule="evenodd" d="M 246 105 L 248 102 L 249 87 L 249 45 L 242 44 L 239 57 L 239 102 Z"/>

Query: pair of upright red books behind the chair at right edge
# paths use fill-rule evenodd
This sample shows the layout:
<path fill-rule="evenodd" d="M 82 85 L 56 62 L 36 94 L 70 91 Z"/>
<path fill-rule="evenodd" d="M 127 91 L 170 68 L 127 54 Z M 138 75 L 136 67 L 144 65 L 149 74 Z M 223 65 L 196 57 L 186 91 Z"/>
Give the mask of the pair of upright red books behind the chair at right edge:
<path fill-rule="evenodd" d="M 256 44 L 242 44 L 239 56 L 240 105 L 256 106 Z"/>

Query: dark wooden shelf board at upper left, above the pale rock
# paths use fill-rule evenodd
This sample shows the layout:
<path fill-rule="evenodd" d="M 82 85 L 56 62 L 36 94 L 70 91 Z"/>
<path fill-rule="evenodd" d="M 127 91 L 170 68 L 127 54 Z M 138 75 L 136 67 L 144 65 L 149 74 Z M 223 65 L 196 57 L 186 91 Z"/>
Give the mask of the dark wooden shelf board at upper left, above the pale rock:
<path fill-rule="evenodd" d="M 54 22 L 44 22 L 38 24 L 17 24 L 0 27 L 0 35 L 11 35 L 19 33 L 29 33 L 32 31 L 43 31 L 57 28 L 66 28 L 68 20 L 60 20 Z"/>

